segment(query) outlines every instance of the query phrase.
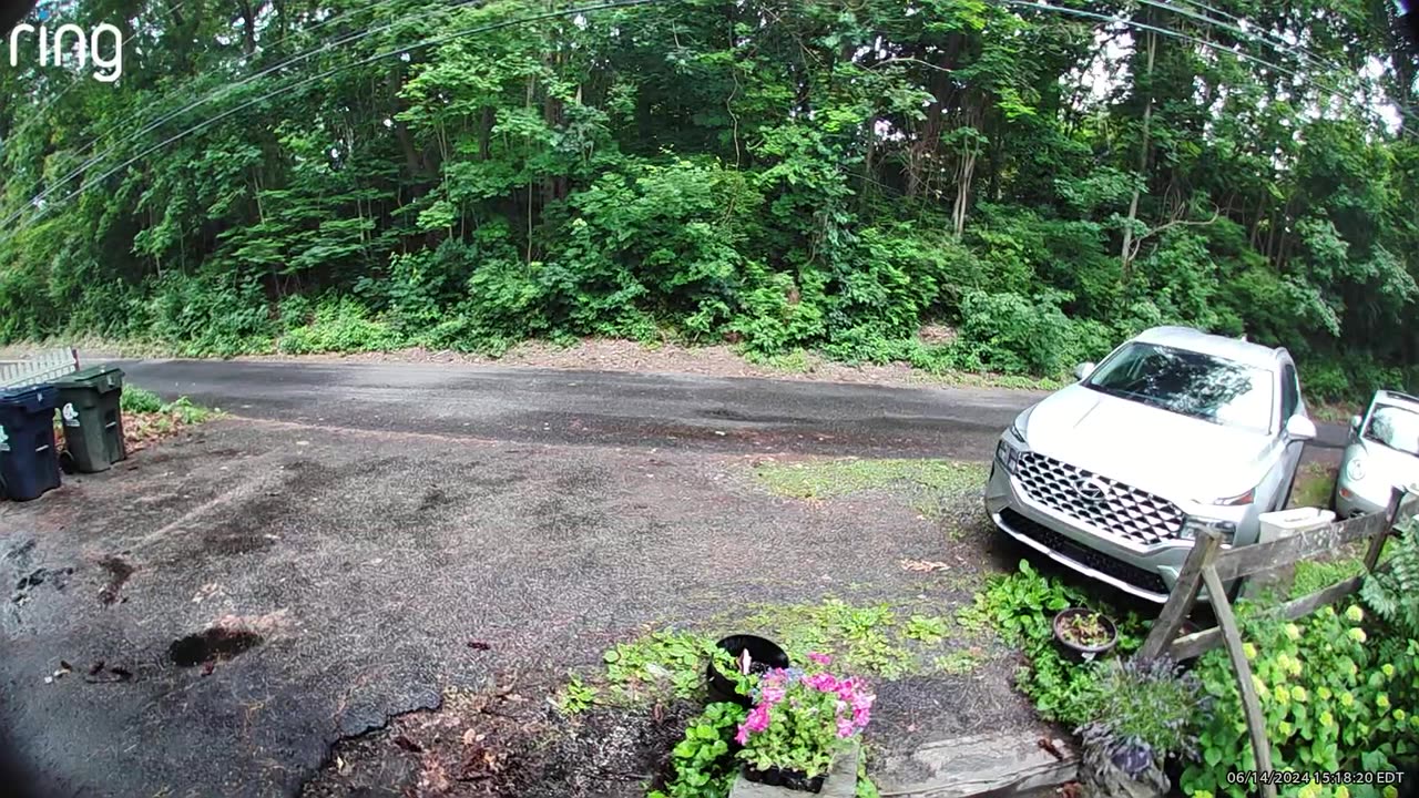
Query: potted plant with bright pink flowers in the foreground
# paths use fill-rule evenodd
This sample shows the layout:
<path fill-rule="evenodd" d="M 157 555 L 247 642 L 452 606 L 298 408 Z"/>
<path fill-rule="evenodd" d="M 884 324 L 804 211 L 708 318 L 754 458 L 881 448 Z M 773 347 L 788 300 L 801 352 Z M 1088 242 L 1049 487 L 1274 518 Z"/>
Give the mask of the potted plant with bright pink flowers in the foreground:
<path fill-rule="evenodd" d="M 753 709 L 735 736 L 742 778 L 790 792 L 820 792 L 829 778 L 856 780 L 856 764 L 834 764 L 856 760 L 874 696 L 861 680 L 829 673 L 829 665 L 813 653 L 805 669 L 776 667 L 759 677 Z"/>

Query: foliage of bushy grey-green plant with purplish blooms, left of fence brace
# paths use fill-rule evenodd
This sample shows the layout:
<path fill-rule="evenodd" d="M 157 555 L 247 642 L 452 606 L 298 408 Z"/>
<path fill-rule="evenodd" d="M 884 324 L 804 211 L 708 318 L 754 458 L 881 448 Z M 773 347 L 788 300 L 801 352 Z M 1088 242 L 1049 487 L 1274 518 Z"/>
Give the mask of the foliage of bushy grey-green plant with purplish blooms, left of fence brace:
<path fill-rule="evenodd" d="M 1111 660 L 1087 703 L 1090 721 L 1076 734 L 1128 775 L 1161 768 L 1168 757 L 1195 760 L 1193 724 L 1205 721 L 1210 706 L 1202 680 L 1166 657 Z"/>

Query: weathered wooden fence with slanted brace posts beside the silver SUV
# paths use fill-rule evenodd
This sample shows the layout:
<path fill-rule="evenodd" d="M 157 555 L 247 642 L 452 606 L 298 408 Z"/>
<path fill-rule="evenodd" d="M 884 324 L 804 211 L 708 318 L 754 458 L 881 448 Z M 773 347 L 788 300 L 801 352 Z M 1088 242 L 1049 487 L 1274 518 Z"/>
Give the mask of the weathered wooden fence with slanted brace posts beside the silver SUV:
<path fill-rule="evenodd" d="M 1226 585 L 1235 579 L 1259 576 L 1294 565 L 1361 540 L 1369 541 L 1369 547 L 1365 550 L 1365 574 L 1368 574 L 1379 562 L 1379 552 L 1395 525 L 1415 514 L 1419 514 L 1419 493 L 1393 488 L 1389 507 L 1384 513 L 1337 521 L 1263 544 L 1223 548 L 1222 538 L 1216 532 L 1203 532 L 1196 545 L 1192 547 L 1192 552 L 1178 575 L 1178 582 L 1174 585 L 1172 594 L 1168 595 L 1168 603 L 1164 605 L 1137 656 L 1152 659 L 1166 653 L 1174 660 L 1183 660 L 1218 646 L 1226 646 L 1227 657 L 1236 672 L 1237 690 L 1242 693 L 1242 710 L 1246 714 L 1247 733 L 1252 737 L 1256 770 L 1257 772 L 1270 771 L 1271 744 L 1266 738 L 1266 718 L 1252 684 L 1252 666 L 1242 650 L 1242 633 L 1232 612 L 1232 602 L 1227 601 Z M 1287 621 L 1303 618 L 1358 591 L 1364 576 L 1361 574 L 1337 582 L 1314 594 L 1281 603 L 1270 612 Z M 1178 630 L 1182 628 L 1183 619 L 1191 615 L 1192 606 L 1198 601 L 1198 591 L 1203 586 L 1208 588 L 1208 599 L 1212 602 L 1218 626 L 1178 638 Z M 1274 798 L 1276 787 L 1263 784 L 1261 795 Z"/>

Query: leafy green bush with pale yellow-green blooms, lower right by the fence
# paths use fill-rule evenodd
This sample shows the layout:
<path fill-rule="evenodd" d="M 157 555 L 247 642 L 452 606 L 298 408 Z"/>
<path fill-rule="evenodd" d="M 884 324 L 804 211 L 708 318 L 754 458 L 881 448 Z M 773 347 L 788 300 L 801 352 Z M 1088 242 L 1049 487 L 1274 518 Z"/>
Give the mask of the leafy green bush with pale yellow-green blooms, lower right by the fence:
<path fill-rule="evenodd" d="M 1300 772 L 1389 771 L 1419 754 L 1419 642 L 1371 636 L 1358 605 L 1288 623 L 1239 606 L 1246 657 L 1271 743 L 1271 767 Z M 1225 650 L 1208 652 L 1195 672 L 1215 700 L 1199 736 L 1200 761 L 1182 775 L 1188 794 L 1247 795 L 1226 774 L 1254 768 L 1236 676 Z M 1385 794 L 1351 785 L 1357 798 Z M 1284 792 L 1325 794 L 1338 792 Z"/>

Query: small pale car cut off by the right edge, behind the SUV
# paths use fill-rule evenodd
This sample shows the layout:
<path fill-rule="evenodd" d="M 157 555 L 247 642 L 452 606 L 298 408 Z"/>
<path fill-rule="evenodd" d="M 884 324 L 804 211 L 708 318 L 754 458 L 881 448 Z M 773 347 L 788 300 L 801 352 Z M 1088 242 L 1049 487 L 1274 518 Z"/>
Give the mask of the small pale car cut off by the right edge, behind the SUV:
<path fill-rule="evenodd" d="M 1364 416 L 1349 420 L 1349 444 L 1335 479 L 1341 518 L 1381 513 L 1395 486 L 1419 483 L 1419 399 L 1376 390 Z"/>

